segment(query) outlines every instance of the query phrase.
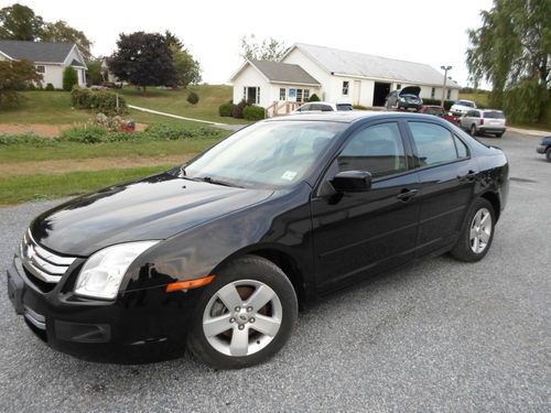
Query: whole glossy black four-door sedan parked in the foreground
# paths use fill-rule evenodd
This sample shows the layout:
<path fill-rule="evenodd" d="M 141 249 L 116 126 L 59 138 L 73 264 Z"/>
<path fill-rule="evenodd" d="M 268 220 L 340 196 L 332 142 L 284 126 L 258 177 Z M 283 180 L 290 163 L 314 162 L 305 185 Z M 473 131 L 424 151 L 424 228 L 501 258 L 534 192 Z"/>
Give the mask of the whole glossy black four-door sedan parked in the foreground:
<path fill-rule="evenodd" d="M 508 163 L 432 116 L 271 119 L 187 164 L 39 216 L 8 271 L 48 346 L 215 368 L 266 360 L 299 307 L 411 260 L 489 250 Z"/>

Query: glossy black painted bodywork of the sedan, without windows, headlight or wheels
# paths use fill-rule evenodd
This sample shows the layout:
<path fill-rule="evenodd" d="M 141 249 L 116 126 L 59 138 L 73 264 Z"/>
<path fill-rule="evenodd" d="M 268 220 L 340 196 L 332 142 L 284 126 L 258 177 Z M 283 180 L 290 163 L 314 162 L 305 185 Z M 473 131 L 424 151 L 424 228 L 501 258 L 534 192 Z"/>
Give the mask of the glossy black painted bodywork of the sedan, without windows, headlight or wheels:
<path fill-rule="evenodd" d="M 34 239 L 78 259 L 52 291 L 44 292 L 15 254 L 9 279 L 15 280 L 12 284 L 22 280 L 21 300 L 46 316 L 45 334 L 36 333 L 53 348 L 95 360 L 134 361 L 134 352 L 140 360 L 169 357 L 183 350 L 188 317 L 202 294 L 202 289 L 166 293 L 171 282 L 216 274 L 231 259 L 257 253 L 280 264 L 301 301 L 310 303 L 367 275 L 450 249 L 475 197 L 487 196 L 497 216 L 505 207 L 508 164 L 503 152 L 444 120 L 346 112 L 300 119 L 349 127 L 320 157 L 314 172 L 292 188 L 242 189 L 163 173 L 71 200 L 37 217 L 31 225 Z M 469 157 L 419 167 L 407 122 L 420 119 L 461 137 Z M 328 182 L 336 173 L 333 160 L 338 151 L 358 129 L 386 121 L 399 123 L 409 170 L 374 180 L 368 192 L 335 192 Z M 411 196 L 403 196 L 406 192 Z M 133 261 L 115 301 L 73 293 L 93 252 L 143 239 L 162 241 Z M 108 326 L 108 332 L 83 343 L 78 333 L 86 326 Z"/>

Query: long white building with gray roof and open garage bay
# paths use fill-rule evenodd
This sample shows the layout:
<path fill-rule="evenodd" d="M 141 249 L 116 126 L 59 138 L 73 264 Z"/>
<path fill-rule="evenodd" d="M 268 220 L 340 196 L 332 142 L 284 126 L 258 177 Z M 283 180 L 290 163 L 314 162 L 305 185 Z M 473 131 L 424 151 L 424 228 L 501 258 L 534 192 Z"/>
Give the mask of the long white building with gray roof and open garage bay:
<path fill-rule="evenodd" d="M 423 63 L 296 43 L 280 63 L 247 61 L 231 76 L 234 102 L 277 107 L 312 94 L 334 104 L 382 107 L 391 90 L 419 86 L 421 98 L 456 100 L 460 85 Z M 278 104 L 279 102 L 279 104 Z"/>

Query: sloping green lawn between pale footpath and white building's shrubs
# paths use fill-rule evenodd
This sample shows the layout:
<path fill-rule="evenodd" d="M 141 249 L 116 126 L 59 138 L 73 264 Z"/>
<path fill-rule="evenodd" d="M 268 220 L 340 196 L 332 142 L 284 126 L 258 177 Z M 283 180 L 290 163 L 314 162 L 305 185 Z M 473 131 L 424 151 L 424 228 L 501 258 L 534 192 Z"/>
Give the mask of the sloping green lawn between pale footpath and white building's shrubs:
<path fill-rule="evenodd" d="M 197 105 L 187 102 L 190 91 L 199 96 Z M 222 118 L 218 116 L 218 107 L 231 99 L 231 86 L 226 85 L 197 85 L 188 89 L 156 89 L 150 87 L 145 94 L 134 87 L 120 89 L 127 104 L 159 110 L 183 117 L 207 120 L 217 123 L 247 123 L 244 119 Z"/>

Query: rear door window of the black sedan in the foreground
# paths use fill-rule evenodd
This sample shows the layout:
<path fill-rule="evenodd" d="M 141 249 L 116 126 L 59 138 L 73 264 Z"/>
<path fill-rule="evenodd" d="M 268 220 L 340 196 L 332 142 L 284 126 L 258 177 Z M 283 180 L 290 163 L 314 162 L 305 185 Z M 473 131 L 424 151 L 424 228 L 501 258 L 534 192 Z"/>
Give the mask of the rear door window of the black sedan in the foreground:
<path fill-rule="evenodd" d="M 446 128 L 434 123 L 408 123 L 421 167 L 457 160 L 454 138 Z"/>

